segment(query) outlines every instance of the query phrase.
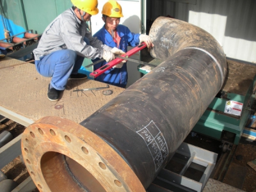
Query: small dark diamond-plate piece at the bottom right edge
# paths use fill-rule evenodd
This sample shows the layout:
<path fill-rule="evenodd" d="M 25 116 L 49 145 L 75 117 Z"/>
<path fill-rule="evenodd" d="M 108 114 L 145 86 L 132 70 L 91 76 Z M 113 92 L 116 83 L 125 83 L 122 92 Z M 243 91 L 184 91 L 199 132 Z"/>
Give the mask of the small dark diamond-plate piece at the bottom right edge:
<path fill-rule="evenodd" d="M 225 184 L 223 182 L 220 182 L 218 180 L 209 179 L 207 183 L 205 184 L 205 187 L 203 189 L 203 192 L 245 192 L 241 189 L 234 188 L 232 186 L 229 186 L 228 184 Z"/>

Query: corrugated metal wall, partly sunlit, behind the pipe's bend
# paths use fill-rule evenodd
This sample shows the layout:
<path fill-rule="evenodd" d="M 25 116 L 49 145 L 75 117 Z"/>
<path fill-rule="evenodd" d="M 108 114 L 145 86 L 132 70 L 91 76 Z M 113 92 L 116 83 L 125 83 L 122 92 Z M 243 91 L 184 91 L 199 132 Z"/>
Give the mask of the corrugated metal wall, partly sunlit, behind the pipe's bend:
<path fill-rule="evenodd" d="M 255 0 L 180 2 L 184 1 L 147 1 L 147 18 L 170 15 L 195 24 L 220 42 L 228 58 L 256 63 Z"/>

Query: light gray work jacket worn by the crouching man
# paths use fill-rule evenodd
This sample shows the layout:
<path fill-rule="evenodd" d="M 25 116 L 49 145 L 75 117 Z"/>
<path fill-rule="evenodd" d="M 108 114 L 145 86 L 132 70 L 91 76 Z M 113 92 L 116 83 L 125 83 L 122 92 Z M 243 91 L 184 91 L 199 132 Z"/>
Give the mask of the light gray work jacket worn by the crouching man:
<path fill-rule="evenodd" d="M 90 45 L 84 42 L 84 36 L 90 40 Z M 96 37 L 92 37 L 88 24 L 79 20 L 74 10 L 70 8 L 47 26 L 38 47 L 33 51 L 35 60 L 61 49 L 71 49 L 85 58 L 102 58 L 103 49 L 111 50 L 111 47 L 103 45 Z"/>

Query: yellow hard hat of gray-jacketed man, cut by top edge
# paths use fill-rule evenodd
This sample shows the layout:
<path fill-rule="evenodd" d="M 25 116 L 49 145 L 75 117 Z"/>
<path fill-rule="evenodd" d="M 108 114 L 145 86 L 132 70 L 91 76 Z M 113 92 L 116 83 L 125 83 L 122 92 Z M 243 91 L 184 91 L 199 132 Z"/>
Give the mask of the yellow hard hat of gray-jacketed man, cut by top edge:
<path fill-rule="evenodd" d="M 96 15 L 99 13 L 97 8 L 98 0 L 71 0 L 71 2 L 80 10 L 89 13 L 90 15 Z"/>

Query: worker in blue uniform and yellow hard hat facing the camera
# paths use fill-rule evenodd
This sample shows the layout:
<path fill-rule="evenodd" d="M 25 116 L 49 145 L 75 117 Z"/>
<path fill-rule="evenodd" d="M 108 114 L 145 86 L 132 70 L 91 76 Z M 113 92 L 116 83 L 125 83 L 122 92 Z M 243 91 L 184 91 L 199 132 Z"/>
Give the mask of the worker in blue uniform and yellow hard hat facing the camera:
<path fill-rule="evenodd" d="M 139 45 L 140 42 L 145 42 L 147 47 L 154 47 L 150 36 L 134 34 L 129 28 L 119 24 L 121 17 L 124 17 L 124 15 L 120 4 L 117 1 L 109 0 L 102 8 L 102 20 L 105 24 L 93 36 L 101 40 L 103 44 L 114 47 L 113 49 L 120 49 L 124 52 L 127 52 L 129 45 L 135 47 Z M 107 61 L 102 61 L 94 65 L 94 70 L 106 65 L 106 63 Z M 126 63 L 115 65 L 115 67 L 95 78 L 95 80 L 125 88 L 128 80 Z"/>

